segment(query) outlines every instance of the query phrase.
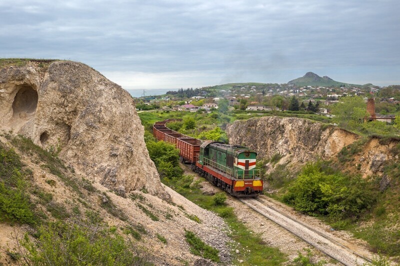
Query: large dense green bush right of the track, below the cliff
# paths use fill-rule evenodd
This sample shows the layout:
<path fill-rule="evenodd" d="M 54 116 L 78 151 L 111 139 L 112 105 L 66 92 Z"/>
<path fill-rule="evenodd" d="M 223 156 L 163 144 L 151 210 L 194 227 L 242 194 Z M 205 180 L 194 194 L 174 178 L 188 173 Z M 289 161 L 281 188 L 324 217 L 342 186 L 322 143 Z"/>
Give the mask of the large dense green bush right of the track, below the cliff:
<path fill-rule="evenodd" d="M 307 164 L 282 200 L 298 211 L 334 218 L 358 218 L 375 203 L 371 184 L 359 176 L 327 174 L 318 163 Z"/>

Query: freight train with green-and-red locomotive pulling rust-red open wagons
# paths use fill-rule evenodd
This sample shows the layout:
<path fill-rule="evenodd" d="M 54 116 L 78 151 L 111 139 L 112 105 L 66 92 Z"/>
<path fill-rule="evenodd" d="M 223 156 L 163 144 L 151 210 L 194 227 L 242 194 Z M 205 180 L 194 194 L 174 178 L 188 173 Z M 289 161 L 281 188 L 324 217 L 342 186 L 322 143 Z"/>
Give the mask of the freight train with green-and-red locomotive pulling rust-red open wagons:
<path fill-rule="evenodd" d="M 171 143 L 179 149 L 180 161 L 209 182 L 235 197 L 256 197 L 262 194 L 261 171 L 256 169 L 256 153 L 246 147 L 217 141 L 201 141 L 166 127 L 163 120 L 154 123 L 157 140 Z"/>

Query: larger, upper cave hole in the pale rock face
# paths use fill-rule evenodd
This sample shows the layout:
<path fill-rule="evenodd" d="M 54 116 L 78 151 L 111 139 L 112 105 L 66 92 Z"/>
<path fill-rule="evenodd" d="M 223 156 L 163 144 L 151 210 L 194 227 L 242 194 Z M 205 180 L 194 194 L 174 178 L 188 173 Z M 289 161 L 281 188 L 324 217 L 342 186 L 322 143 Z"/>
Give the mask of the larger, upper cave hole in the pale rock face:
<path fill-rule="evenodd" d="M 12 102 L 13 116 L 23 118 L 26 114 L 33 114 L 36 107 L 37 92 L 29 85 L 20 86 Z"/>

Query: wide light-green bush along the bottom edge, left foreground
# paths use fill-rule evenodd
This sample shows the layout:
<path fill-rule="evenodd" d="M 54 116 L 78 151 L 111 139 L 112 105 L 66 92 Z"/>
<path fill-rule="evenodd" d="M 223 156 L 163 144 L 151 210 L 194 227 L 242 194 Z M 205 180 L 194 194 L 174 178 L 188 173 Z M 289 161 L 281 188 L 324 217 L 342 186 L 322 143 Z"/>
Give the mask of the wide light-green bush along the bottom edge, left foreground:
<path fill-rule="evenodd" d="M 40 227 L 37 235 L 34 243 L 27 234 L 19 241 L 28 265 L 148 265 L 146 250 L 104 225 L 58 222 Z"/>

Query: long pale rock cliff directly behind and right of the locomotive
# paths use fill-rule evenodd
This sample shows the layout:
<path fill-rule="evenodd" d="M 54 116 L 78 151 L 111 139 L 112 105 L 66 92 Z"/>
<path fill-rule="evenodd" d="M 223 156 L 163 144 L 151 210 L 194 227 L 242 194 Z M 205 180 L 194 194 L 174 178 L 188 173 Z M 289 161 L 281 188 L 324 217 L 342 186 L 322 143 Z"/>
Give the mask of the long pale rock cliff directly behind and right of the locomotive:
<path fill-rule="evenodd" d="M 268 116 L 236 120 L 226 128 L 230 144 L 249 147 L 259 158 L 275 154 L 282 161 L 307 162 L 329 159 L 358 139 L 356 134 L 299 118 Z"/>

